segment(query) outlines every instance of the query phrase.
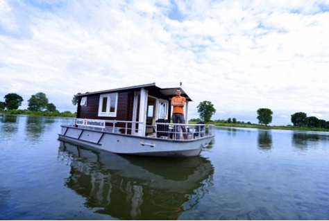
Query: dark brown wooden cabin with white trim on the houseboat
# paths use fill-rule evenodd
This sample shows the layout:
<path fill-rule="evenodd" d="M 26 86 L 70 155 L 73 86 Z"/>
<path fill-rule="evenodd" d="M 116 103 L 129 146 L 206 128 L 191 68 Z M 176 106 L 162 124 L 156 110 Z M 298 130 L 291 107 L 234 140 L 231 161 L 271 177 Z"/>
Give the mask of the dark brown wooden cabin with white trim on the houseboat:
<path fill-rule="evenodd" d="M 180 89 L 181 96 L 186 98 L 185 122 L 187 121 L 187 107 L 192 101 L 180 87 L 160 88 L 155 83 L 96 91 L 76 95 L 78 98 L 77 118 L 91 118 L 111 121 L 132 121 L 130 134 L 145 134 L 146 125 L 155 125 L 158 119 L 171 120 L 171 98 L 176 89 Z M 142 122 L 142 130 L 137 130 Z M 118 125 L 119 126 L 119 125 Z"/>

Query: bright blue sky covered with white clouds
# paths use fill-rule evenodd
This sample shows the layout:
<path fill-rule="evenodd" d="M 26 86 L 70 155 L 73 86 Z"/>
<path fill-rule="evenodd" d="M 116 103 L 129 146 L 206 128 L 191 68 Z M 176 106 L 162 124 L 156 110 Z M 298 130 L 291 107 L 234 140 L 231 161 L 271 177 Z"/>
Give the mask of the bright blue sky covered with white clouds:
<path fill-rule="evenodd" d="M 329 121 L 329 0 L 1 0 L 0 101 L 144 85 L 189 94 L 188 118 Z"/>

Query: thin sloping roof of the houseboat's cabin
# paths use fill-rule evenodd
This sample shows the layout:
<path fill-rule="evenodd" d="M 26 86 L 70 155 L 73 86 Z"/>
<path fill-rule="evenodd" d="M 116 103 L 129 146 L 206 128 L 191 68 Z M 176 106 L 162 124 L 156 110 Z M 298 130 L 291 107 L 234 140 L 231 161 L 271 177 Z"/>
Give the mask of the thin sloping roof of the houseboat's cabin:
<path fill-rule="evenodd" d="M 186 94 L 186 92 L 181 88 L 181 87 L 169 87 L 169 88 L 160 88 L 157 87 L 154 83 L 151 84 L 146 84 L 146 85 L 135 85 L 135 86 L 130 86 L 130 87 L 121 87 L 117 89 L 108 89 L 105 91 L 95 91 L 95 92 L 90 92 L 90 93 L 85 93 L 85 94 L 76 94 L 74 96 L 79 97 L 79 96 L 86 96 L 86 95 L 91 95 L 91 94 L 106 94 L 110 92 L 117 92 L 117 91 L 126 91 L 126 90 L 132 90 L 132 89 L 140 89 L 140 88 L 145 88 L 145 89 L 151 89 L 151 90 L 158 90 L 160 91 L 161 94 L 163 94 L 167 98 L 171 98 L 175 96 L 176 94 L 176 89 L 180 89 L 181 95 L 186 98 L 188 101 L 192 101 L 191 98 Z"/>

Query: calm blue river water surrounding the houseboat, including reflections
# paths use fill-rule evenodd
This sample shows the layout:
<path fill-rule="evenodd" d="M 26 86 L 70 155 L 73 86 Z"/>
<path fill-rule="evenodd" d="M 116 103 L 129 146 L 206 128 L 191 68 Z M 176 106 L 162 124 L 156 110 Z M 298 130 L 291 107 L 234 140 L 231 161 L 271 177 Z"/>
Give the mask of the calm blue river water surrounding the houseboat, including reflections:
<path fill-rule="evenodd" d="M 0 115 L 1 220 L 329 220 L 329 133 L 217 127 L 200 157 L 58 140 L 63 118 Z"/>

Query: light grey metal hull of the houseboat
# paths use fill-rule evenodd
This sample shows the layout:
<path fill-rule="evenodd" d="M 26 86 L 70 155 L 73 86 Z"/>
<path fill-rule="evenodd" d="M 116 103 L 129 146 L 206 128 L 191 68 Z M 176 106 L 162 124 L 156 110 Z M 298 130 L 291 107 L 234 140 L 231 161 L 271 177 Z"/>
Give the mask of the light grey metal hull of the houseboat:
<path fill-rule="evenodd" d="M 214 136 L 196 139 L 161 139 L 134 136 L 101 130 L 89 130 L 62 125 L 58 139 L 117 154 L 137 154 L 153 157 L 194 157 L 207 147 Z"/>

